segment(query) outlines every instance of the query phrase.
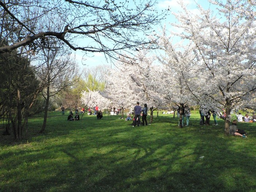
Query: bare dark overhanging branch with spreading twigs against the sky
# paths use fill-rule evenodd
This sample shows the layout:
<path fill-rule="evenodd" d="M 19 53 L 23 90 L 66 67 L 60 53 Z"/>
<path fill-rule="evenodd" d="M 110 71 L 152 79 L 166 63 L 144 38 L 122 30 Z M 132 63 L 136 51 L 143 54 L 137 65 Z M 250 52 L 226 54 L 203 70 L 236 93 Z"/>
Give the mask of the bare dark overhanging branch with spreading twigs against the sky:
<path fill-rule="evenodd" d="M 1 0 L 2 12 L 12 20 L 12 25 L 3 33 L 2 38 L 6 38 L 8 44 L 0 46 L 0 53 L 22 46 L 36 53 L 46 38 L 57 38 L 73 50 L 82 50 L 85 54 L 103 52 L 117 59 L 117 54 L 122 54 L 123 50 L 139 49 L 150 43 L 147 35 L 151 27 L 157 25 L 169 10 L 158 13 L 156 4 L 154 0 Z M 63 23 L 62 30 L 38 27 L 38 21 L 50 18 L 49 15 L 54 19 L 48 22 Z"/>

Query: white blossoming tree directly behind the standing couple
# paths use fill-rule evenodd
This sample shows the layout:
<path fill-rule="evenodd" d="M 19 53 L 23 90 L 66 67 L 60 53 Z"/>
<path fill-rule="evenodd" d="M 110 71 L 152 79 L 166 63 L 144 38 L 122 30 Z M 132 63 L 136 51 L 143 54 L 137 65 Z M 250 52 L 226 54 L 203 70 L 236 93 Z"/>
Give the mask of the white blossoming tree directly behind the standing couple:
<path fill-rule="evenodd" d="M 129 58 L 129 59 L 128 59 Z M 118 106 L 133 109 L 137 101 L 143 106 L 147 103 L 148 112 L 153 120 L 153 109 L 167 108 L 167 99 L 158 94 L 159 72 L 162 67 L 155 63 L 155 57 L 147 50 L 140 50 L 135 57 L 120 57 L 107 78 L 105 91 Z"/>

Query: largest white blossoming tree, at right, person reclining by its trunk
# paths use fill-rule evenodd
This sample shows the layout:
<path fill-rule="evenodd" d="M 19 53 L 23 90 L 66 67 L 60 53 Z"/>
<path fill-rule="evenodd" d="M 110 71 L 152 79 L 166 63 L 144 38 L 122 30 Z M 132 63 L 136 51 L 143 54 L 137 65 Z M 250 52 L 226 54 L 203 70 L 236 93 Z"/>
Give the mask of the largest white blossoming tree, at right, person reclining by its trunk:
<path fill-rule="evenodd" d="M 162 60 L 174 69 L 169 71 L 171 75 L 182 72 L 188 89 L 188 93 L 182 95 L 193 95 L 195 101 L 204 103 L 207 108 L 218 106 L 226 110 L 228 133 L 230 110 L 248 104 L 255 93 L 255 3 L 242 0 L 209 2 L 218 9 L 204 10 L 197 5 L 199 14 L 193 14 L 180 3 L 183 11 L 173 13 L 178 22 L 172 26 L 184 32 L 172 32 L 172 35 L 184 39 L 186 47 L 165 49 L 167 55 L 174 55 L 170 56 L 172 61 Z M 168 41 L 163 39 L 162 46 L 169 44 Z M 183 58 L 178 70 L 175 69 L 177 55 Z M 183 75 L 187 71 L 189 73 Z"/>

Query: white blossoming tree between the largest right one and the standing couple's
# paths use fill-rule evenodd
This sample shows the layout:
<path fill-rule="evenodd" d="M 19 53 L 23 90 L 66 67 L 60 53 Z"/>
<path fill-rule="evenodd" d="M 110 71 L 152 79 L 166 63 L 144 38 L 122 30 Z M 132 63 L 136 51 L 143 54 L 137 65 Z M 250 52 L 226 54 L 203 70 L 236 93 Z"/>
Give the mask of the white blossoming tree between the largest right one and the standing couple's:
<path fill-rule="evenodd" d="M 184 41 L 174 44 L 173 36 L 166 34 L 165 27 L 157 37 L 161 50 L 157 58 L 163 67 L 160 77 L 162 81 L 156 93 L 163 95 L 176 108 L 184 108 L 184 105 L 198 105 L 200 94 L 197 93 L 197 82 L 203 79 L 195 78 L 195 74 L 198 73 L 198 59 L 193 52 L 194 46 L 186 45 Z M 182 113 L 179 127 L 182 128 Z"/>

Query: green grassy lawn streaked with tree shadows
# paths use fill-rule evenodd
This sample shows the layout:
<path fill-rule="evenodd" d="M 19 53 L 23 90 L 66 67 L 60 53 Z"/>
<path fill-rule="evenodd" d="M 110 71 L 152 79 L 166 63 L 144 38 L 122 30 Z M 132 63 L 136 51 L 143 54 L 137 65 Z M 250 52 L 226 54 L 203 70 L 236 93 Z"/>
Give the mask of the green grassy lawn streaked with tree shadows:
<path fill-rule="evenodd" d="M 0 191 L 256 191 L 256 123 L 238 123 L 241 138 L 221 119 L 199 125 L 198 113 L 182 129 L 169 114 L 140 127 L 119 117 L 53 112 L 44 134 L 39 115 L 21 142 L 0 135 Z"/>

